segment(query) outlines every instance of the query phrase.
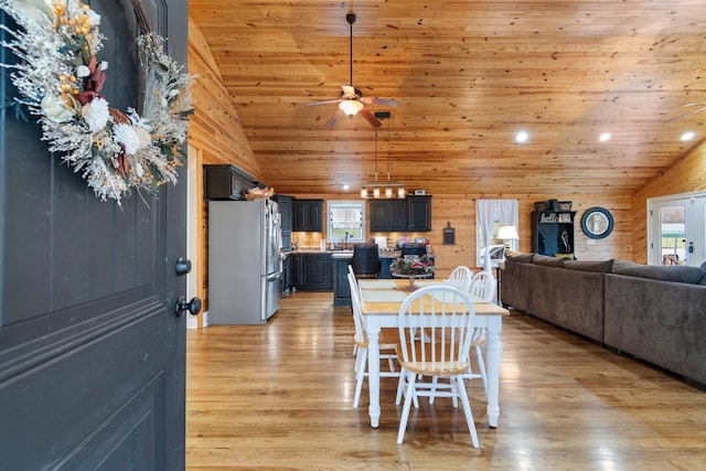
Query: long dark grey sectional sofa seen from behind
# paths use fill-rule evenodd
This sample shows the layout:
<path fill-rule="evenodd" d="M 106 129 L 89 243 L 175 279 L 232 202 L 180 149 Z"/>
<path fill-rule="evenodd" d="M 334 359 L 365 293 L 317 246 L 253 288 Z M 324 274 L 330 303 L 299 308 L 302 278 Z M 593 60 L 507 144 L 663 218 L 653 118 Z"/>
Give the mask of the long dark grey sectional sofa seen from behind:
<path fill-rule="evenodd" d="M 645 266 L 510 253 L 502 302 L 706 390 L 706 263 Z"/>

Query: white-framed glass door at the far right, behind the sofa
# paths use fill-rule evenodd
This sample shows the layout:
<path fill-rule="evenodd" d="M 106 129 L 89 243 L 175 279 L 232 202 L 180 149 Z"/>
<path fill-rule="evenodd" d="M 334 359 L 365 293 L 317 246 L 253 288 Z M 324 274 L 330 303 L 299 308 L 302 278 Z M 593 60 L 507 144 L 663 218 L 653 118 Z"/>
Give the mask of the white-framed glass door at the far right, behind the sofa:
<path fill-rule="evenodd" d="M 651 199 L 648 210 L 650 265 L 706 261 L 706 193 Z"/>

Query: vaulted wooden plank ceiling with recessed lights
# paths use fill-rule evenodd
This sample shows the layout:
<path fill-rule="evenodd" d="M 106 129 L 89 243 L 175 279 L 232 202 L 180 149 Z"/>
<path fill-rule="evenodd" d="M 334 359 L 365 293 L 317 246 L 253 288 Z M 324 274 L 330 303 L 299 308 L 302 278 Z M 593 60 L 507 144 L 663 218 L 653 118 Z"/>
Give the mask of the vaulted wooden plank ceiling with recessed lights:
<path fill-rule="evenodd" d="M 703 0 L 189 3 L 278 192 L 355 196 L 377 148 L 378 179 L 428 194 L 630 194 L 706 137 L 706 111 L 664 122 L 706 101 Z M 366 105 L 392 111 L 377 146 L 302 106 L 349 84 L 351 9 L 353 85 L 399 101 Z"/>

